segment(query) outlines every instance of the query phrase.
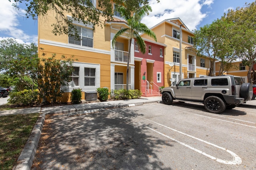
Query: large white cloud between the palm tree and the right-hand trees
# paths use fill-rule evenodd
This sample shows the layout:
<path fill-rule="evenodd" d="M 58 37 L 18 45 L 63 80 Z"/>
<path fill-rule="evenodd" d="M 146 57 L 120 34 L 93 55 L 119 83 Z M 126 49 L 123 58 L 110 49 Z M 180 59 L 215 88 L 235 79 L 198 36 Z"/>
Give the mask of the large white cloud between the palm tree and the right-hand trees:
<path fill-rule="evenodd" d="M 206 18 L 202 6 L 210 7 L 214 0 L 150 0 L 152 12 L 142 19 L 149 28 L 170 18 L 180 18 L 191 31 Z"/>

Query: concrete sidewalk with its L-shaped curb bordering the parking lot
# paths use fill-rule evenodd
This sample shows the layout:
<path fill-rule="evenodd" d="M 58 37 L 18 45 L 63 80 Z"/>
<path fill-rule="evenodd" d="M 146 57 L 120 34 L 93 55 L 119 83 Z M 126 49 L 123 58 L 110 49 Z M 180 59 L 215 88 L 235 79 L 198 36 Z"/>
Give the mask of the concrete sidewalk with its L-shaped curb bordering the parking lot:
<path fill-rule="evenodd" d="M 106 108 L 139 106 L 143 104 L 160 102 L 160 101 L 162 101 L 161 96 L 141 97 L 140 99 L 131 99 L 131 100 L 116 100 L 116 101 L 109 101 L 109 102 L 96 102 L 96 103 L 54 106 L 54 107 L 30 107 L 30 108 L 24 108 L 24 109 L 0 111 L 0 116 L 13 115 L 13 114 L 40 113 L 40 116 L 38 117 L 38 121 L 36 122 L 34 129 L 32 130 L 30 137 L 17 160 L 18 164 L 13 168 L 13 170 L 30 170 L 34 160 L 34 156 L 36 154 L 38 143 L 40 141 L 40 135 L 42 133 L 46 114 L 67 113 L 65 115 L 69 116 L 69 115 L 104 111 L 104 109 Z"/>

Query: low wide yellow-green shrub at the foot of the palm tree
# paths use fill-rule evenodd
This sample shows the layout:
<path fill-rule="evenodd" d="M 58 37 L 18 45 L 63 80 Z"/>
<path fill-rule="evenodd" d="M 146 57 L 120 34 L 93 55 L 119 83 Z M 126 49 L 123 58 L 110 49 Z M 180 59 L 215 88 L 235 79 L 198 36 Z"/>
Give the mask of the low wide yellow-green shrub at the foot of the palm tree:
<path fill-rule="evenodd" d="M 114 100 L 127 100 L 127 99 L 138 99 L 142 93 L 140 90 L 126 90 L 126 89 L 120 89 L 120 90 L 111 90 L 111 98 Z"/>

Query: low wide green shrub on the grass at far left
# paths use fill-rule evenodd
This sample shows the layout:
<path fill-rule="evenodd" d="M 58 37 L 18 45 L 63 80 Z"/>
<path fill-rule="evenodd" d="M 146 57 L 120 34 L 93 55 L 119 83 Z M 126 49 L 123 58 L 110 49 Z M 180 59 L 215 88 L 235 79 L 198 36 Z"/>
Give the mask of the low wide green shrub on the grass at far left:
<path fill-rule="evenodd" d="M 19 104 L 32 106 L 38 103 L 38 90 L 22 90 L 20 92 L 10 92 L 10 98 L 7 100 L 10 104 Z"/>

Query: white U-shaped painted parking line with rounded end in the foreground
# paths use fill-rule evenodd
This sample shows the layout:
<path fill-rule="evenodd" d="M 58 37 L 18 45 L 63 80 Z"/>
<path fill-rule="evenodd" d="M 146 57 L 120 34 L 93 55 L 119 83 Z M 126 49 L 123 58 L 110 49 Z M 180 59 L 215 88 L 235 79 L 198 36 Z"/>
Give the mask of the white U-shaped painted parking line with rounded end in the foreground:
<path fill-rule="evenodd" d="M 192 150 L 194 150 L 194 151 L 196 151 L 196 152 L 198 152 L 198 153 L 200 153 L 200 154 L 202 154 L 202 155 L 204 155 L 204 156 L 207 156 L 208 158 L 211 158 L 212 160 L 216 160 L 217 162 L 220 162 L 220 163 L 223 163 L 223 164 L 229 164 L 229 165 L 239 165 L 239 164 L 242 163 L 242 159 L 241 159 L 237 154 L 235 154 L 234 152 L 232 152 L 232 151 L 230 151 L 230 150 L 228 150 L 228 149 L 225 149 L 225 148 L 223 148 L 223 147 L 219 147 L 218 145 L 215 145 L 215 144 L 212 144 L 212 143 L 210 143 L 210 142 L 207 142 L 207 141 L 204 141 L 204 140 L 202 140 L 202 139 L 199 139 L 199 138 L 197 138 L 197 137 L 188 135 L 188 134 L 183 133 L 183 132 L 181 132 L 181 131 L 177 131 L 176 129 L 172 129 L 172 128 L 170 128 L 170 127 L 167 127 L 167 126 L 165 126 L 165 125 L 162 125 L 162 124 L 157 123 L 157 122 L 155 122 L 155 121 L 152 121 L 152 120 L 150 120 L 150 119 L 146 119 L 146 118 L 144 118 L 144 117 L 141 117 L 141 118 L 142 118 L 142 119 L 145 119 L 145 120 L 147 120 L 147 121 L 153 122 L 153 123 L 155 123 L 155 124 L 157 124 L 157 125 L 160 125 L 160 126 L 162 126 L 162 127 L 168 128 L 168 129 L 170 129 L 170 130 L 172 130 L 172 131 L 178 132 L 178 133 L 180 133 L 180 134 L 182 134 L 182 135 L 186 135 L 186 136 L 188 136 L 188 137 L 191 137 L 191 138 L 193 138 L 193 139 L 196 139 L 196 140 L 198 140 L 198 141 L 201 141 L 201 142 L 203 142 L 203 143 L 207 143 L 208 145 L 212 145 L 213 147 L 216 147 L 216 148 L 218 148 L 218 149 L 225 150 L 226 152 L 230 153 L 230 154 L 233 156 L 233 158 L 234 158 L 232 161 L 226 161 L 226 160 L 222 160 L 222 159 L 216 158 L 216 157 L 214 157 L 214 156 L 211 156 L 210 154 L 207 154 L 207 153 L 205 153 L 205 152 L 202 152 L 201 150 L 195 149 L 194 147 L 191 147 L 190 145 L 187 145 L 187 144 L 185 144 L 185 143 L 182 143 L 182 142 L 180 142 L 180 141 L 178 141 L 178 140 L 176 140 L 176 139 L 174 139 L 174 138 L 172 138 L 172 137 L 170 137 L 170 136 L 167 136 L 167 135 L 165 135 L 165 134 L 163 134 L 163 133 L 160 133 L 160 132 L 158 132 L 158 131 L 156 131 L 156 130 L 150 128 L 150 127 L 147 127 L 148 129 L 150 129 L 150 130 L 152 130 L 152 131 L 154 131 L 154 132 L 156 132 L 156 133 L 158 133 L 158 134 L 160 134 L 160 135 L 162 135 L 162 136 L 164 136 L 164 137 L 167 137 L 168 139 L 171 139 L 172 141 L 175 141 L 175 142 L 177 142 L 177 143 L 179 143 L 179 144 L 181 144 L 181 145 L 183 145 L 183 146 L 185 146 L 185 147 L 188 147 L 189 149 L 192 149 Z"/>

